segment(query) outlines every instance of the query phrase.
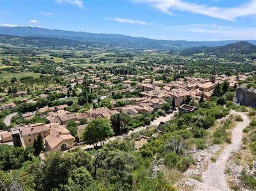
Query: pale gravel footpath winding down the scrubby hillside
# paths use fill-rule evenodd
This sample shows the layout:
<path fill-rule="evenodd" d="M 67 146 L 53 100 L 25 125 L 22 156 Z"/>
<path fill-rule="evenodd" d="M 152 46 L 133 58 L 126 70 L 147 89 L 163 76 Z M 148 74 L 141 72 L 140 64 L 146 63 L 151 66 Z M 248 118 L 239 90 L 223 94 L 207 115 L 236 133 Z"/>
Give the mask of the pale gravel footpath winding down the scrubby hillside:
<path fill-rule="evenodd" d="M 243 119 L 243 121 L 239 122 L 232 131 L 232 144 L 227 145 L 217 161 L 215 163 L 211 163 L 207 170 L 202 174 L 202 180 L 205 185 L 220 190 L 228 190 L 224 173 L 226 164 L 228 159 L 231 157 L 232 152 L 237 152 L 241 146 L 242 130 L 250 123 L 248 117 L 242 112 L 231 110 L 231 114 L 240 115 Z"/>

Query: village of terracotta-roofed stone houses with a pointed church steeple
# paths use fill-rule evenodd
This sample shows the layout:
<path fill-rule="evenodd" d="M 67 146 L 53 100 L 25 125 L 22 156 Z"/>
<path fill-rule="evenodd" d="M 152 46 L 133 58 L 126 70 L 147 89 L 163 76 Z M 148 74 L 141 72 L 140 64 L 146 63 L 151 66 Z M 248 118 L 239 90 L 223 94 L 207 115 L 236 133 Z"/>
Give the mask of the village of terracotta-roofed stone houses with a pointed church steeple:
<path fill-rule="evenodd" d="M 156 68 L 158 69 L 158 68 Z M 100 71 L 99 71 L 100 72 Z M 0 132 L 0 143 L 11 144 L 14 146 L 33 146 L 35 140 L 41 135 L 44 140 L 44 151 L 65 151 L 74 146 L 79 142 L 83 142 L 83 132 L 86 129 L 87 123 L 95 118 L 107 118 L 111 119 L 111 116 L 123 113 L 129 116 L 136 116 L 138 114 L 152 113 L 154 111 L 163 111 L 165 114 L 170 115 L 173 110 L 190 111 L 190 105 L 186 105 L 186 100 L 193 100 L 198 102 L 201 97 L 204 100 L 209 101 L 212 95 L 213 88 L 218 83 L 223 83 L 227 81 L 229 88 L 234 89 L 239 80 L 245 80 L 248 75 L 239 76 L 226 76 L 217 75 L 215 66 L 212 69 L 211 75 L 208 79 L 200 79 L 196 77 L 186 77 L 177 79 L 169 83 L 163 83 L 163 81 L 153 81 L 152 79 L 147 79 L 146 76 L 139 76 L 140 82 L 134 81 L 133 79 L 138 79 L 138 76 L 134 75 L 120 75 L 115 76 L 113 74 L 106 74 L 105 78 L 109 80 L 103 80 L 102 77 L 97 77 L 93 70 L 87 70 L 82 72 L 86 75 L 88 79 L 93 83 L 89 84 L 90 91 L 95 91 L 101 86 L 113 87 L 112 82 L 114 80 L 119 80 L 123 84 L 123 88 L 119 90 L 111 91 L 111 88 L 104 89 L 104 96 L 92 100 L 93 109 L 86 110 L 84 112 L 71 112 L 66 110 L 69 107 L 67 104 L 57 105 L 53 107 L 37 108 L 34 112 L 25 112 L 21 114 L 24 121 L 31 120 L 35 115 L 45 118 L 44 123 L 26 124 L 26 125 L 16 125 L 10 130 Z M 71 87 L 83 84 L 85 79 L 83 77 L 75 77 L 75 79 L 70 79 L 69 83 Z M 81 91 L 77 88 L 78 91 Z M 46 88 L 45 92 L 55 91 L 57 93 L 70 94 L 68 91 L 70 89 L 66 86 Z M 126 98 L 112 99 L 110 105 L 107 107 L 100 107 L 99 102 L 104 101 L 104 99 L 122 94 L 132 94 L 137 91 L 137 97 L 131 96 Z M 24 96 L 26 91 L 18 91 L 14 96 Z M 46 98 L 48 95 L 41 94 L 31 100 L 28 98 L 23 99 L 24 103 L 36 103 L 39 98 Z M 60 98 L 60 99 L 65 99 Z M 95 104 L 98 104 L 98 107 Z M 1 110 L 15 109 L 15 103 L 7 103 L 1 105 Z M 160 112 L 161 113 L 161 112 Z M 16 113 L 17 114 L 17 113 Z M 168 120 L 171 119 L 170 118 Z M 159 117 L 159 116 L 158 116 Z M 11 119 L 9 119 L 10 121 Z M 80 124 L 80 121 L 86 121 Z M 71 135 L 70 131 L 66 129 L 69 122 L 75 122 L 77 124 L 76 135 Z M 160 122 L 158 123 L 160 124 Z M 10 125 L 8 122 L 6 125 Z M 149 123 L 150 125 L 150 123 Z"/>

